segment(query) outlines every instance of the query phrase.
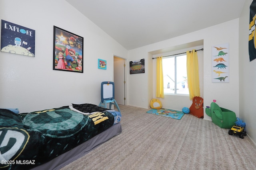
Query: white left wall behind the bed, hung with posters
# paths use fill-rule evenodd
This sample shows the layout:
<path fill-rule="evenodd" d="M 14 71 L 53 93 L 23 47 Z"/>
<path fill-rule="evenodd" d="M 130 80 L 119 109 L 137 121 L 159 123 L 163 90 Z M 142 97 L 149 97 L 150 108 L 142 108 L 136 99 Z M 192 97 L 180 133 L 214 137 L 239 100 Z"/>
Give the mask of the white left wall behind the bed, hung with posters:
<path fill-rule="evenodd" d="M 113 80 L 113 55 L 128 51 L 64 0 L 1 0 L 0 16 L 36 31 L 35 57 L 0 52 L 0 108 L 20 112 L 100 102 L 100 83 Z M 84 73 L 53 70 L 53 26 L 84 37 Z M 98 59 L 107 70 L 98 69 Z"/>

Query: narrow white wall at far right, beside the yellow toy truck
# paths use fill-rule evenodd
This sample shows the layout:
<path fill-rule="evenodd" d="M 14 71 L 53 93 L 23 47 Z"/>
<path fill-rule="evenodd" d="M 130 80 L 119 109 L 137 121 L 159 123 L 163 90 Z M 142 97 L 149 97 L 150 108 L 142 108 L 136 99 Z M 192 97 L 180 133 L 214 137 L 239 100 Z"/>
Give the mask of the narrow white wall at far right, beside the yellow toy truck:
<path fill-rule="evenodd" d="M 252 0 L 246 0 L 239 20 L 239 105 L 240 118 L 246 123 L 246 132 L 255 144 L 256 59 L 250 62 L 248 53 L 249 15 L 251 3 Z"/>

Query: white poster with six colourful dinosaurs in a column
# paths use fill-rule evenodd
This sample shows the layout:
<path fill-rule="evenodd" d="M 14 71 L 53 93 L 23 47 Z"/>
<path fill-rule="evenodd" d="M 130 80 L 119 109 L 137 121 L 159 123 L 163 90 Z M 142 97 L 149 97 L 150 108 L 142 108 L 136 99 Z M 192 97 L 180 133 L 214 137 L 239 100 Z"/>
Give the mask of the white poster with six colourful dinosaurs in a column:
<path fill-rule="evenodd" d="M 212 46 L 212 82 L 229 82 L 229 44 Z"/>

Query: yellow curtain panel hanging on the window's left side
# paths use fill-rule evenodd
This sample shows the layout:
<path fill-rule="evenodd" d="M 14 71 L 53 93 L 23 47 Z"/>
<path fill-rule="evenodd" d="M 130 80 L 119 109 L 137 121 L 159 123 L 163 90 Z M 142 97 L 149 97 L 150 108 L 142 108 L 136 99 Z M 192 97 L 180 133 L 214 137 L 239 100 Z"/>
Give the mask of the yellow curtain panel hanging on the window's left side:
<path fill-rule="evenodd" d="M 164 76 L 162 57 L 156 58 L 156 97 L 164 98 Z"/>

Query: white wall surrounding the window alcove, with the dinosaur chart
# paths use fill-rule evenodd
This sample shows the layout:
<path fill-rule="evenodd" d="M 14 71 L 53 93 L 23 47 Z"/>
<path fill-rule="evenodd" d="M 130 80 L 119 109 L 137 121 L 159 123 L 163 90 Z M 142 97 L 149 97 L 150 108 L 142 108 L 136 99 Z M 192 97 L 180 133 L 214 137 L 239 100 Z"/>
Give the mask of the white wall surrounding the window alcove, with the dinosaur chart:
<path fill-rule="evenodd" d="M 148 53 L 161 49 L 168 49 L 186 45 L 194 41 L 203 40 L 204 44 L 204 66 L 203 66 L 203 95 L 204 107 L 210 106 L 212 100 L 217 100 L 220 107 L 230 109 L 239 116 L 239 65 L 238 65 L 238 25 L 239 19 L 231 20 L 219 25 L 214 25 L 206 29 L 201 29 L 186 35 L 140 47 L 129 51 L 128 60 L 145 59 L 146 73 L 128 75 L 128 104 L 139 107 L 149 107 L 150 99 L 155 94 L 149 94 L 148 91 L 153 91 L 155 82 L 153 79 L 148 79 L 152 75 L 152 57 L 148 57 Z M 232 28 L 232 29 L 230 29 Z M 212 68 L 211 55 L 212 46 L 223 43 L 229 43 L 230 53 L 230 82 L 229 83 L 212 83 Z M 139 83 L 134 83 L 139 82 Z M 235 97 L 234 97 L 235 94 Z M 148 99 L 144 100 L 143 99 Z M 172 100 L 172 105 L 179 105 L 184 98 Z M 189 99 L 188 99 L 189 100 Z M 166 107 L 166 106 L 163 106 Z M 187 107 L 187 106 L 184 106 Z M 211 118 L 204 113 L 204 119 Z"/>

